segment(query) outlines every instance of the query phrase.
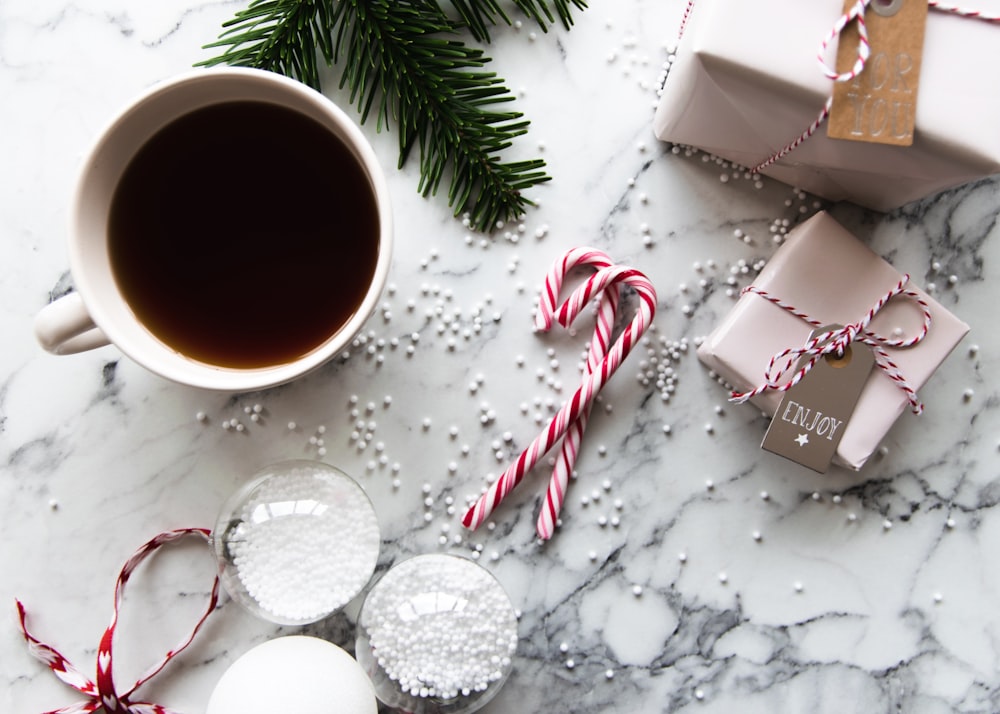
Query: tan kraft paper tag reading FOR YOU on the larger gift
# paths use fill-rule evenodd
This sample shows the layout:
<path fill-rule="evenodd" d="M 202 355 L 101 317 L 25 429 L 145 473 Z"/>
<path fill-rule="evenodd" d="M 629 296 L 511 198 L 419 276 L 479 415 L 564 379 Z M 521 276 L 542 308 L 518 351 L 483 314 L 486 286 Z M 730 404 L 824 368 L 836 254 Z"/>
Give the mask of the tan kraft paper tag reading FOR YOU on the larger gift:
<path fill-rule="evenodd" d="M 846 0 L 845 10 L 857 0 Z M 871 0 L 865 27 L 871 55 L 849 82 L 835 82 L 827 136 L 910 146 L 917 114 L 927 0 Z M 848 72 L 858 55 L 858 27 L 840 33 L 837 71 Z"/>

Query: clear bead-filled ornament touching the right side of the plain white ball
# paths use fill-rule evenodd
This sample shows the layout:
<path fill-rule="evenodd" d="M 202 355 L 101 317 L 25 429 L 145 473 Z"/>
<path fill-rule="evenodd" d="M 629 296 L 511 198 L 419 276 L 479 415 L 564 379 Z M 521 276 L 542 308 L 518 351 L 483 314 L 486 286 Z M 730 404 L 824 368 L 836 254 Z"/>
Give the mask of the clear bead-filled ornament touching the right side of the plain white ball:
<path fill-rule="evenodd" d="M 413 714 L 464 714 L 510 674 L 517 618 L 485 568 L 420 555 L 391 568 L 365 599 L 357 658 L 386 705 Z"/>

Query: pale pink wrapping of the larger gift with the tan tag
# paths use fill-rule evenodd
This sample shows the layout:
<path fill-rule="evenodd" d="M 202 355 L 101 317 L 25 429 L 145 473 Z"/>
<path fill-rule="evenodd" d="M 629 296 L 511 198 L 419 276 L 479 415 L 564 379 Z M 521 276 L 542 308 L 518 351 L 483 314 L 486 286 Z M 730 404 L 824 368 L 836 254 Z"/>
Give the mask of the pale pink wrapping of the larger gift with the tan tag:
<path fill-rule="evenodd" d="M 842 8 L 843 0 L 696 0 L 657 107 L 656 136 L 745 167 L 778 152 L 833 93 L 816 57 Z M 836 61 L 836 41 L 826 59 Z M 880 211 L 998 173 L 997 67 L 1000 25 L 931 8 L 913 146 L 828 139 L 824 123 L 763 173 Z"/>

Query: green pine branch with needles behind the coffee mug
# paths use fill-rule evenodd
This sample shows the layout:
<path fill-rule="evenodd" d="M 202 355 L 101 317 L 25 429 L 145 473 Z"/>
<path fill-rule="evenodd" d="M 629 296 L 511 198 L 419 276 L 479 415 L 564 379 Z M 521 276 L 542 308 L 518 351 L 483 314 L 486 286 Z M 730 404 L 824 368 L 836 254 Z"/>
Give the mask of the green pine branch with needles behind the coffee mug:
<path fill-rule="evenodd" d="M 350 91 L 364 123 L 399 129 L 399 166 L 419 153 L 418 191 L 436 194 L 450 171 L 448 202 L 470 214 L 479 230 L 518 217 L 533 205 L 523 191 L 549 180 L 540 159 L 503 163 L 499 154 L 526 133 L 528 121 L 497 105 L 514 97 L 503 80 L 483 70 L 491 60 L 461 42 L 464 24 L 488 39 L 488 25 L 507 22 L 496 0 L 452 0 L 459 20 L 435 0 L 252 0 L 223 25 L 208 48 L 219 56 L 199 63 L 257 67 L 320 87 L 318 58 L 343 63 L 341 86 Z M 513 0 L 544 30 L 554 22 L 545 0 Z M 570 4 L 552 0 L 564 25 Z"/>

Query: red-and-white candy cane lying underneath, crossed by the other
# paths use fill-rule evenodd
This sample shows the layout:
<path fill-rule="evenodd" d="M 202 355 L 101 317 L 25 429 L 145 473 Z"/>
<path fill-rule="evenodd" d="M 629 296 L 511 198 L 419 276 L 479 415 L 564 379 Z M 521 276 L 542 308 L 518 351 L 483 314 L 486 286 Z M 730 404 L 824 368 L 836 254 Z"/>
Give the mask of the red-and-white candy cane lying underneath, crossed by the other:
<path fill-rule="evenodd" d="M 545 285 L 538 301 L 538 311 L 535 313 L 536 330 L 547 331 L 552 327 L 556 302 L 559 298 L 559 291 L 562 288 L 563 280 L 567 273 L 580 265 L 606 268 L 613 265 L 613 261 L 607 253 L 595 248 L 573 248 L 567 251 L 562 258 L 552 265 L 549 274 L 545 278 Z M 611 343 L 611 331 L 614 329 L 615 314 L 618 310 L 618 297 L 619 289 L 617 285 L 613 285 L 601 293 L 598 301 L 594 334 L 590 340 L 590 349 L 587 354 L 585 375 L 592 373 L 607 353 L 608 345 Z M 573 473 L 573 466 L 576 464 L 580 442 L 583 440 L 583 433 L 587 428 L 587 421 L 590 418 L 592 407 L 592 402 L 586 405 L 580 416 L 570 425 L 566 436 L 563 438 L 562 448 L 560 449 L 559 456 L 556 458 L 555 467 L 552 469 L 549 488 L 545 494 L 545 501 L 542 503 L 542 510 L 538 514 L 538 522 L 535 526 L 538 537 L 542 540 L 548 540 L 555 532 L 559 511 L 562 509 L 563 501 L 566 498 L 566 490 L 569 487 L 570 476 Z"/>

